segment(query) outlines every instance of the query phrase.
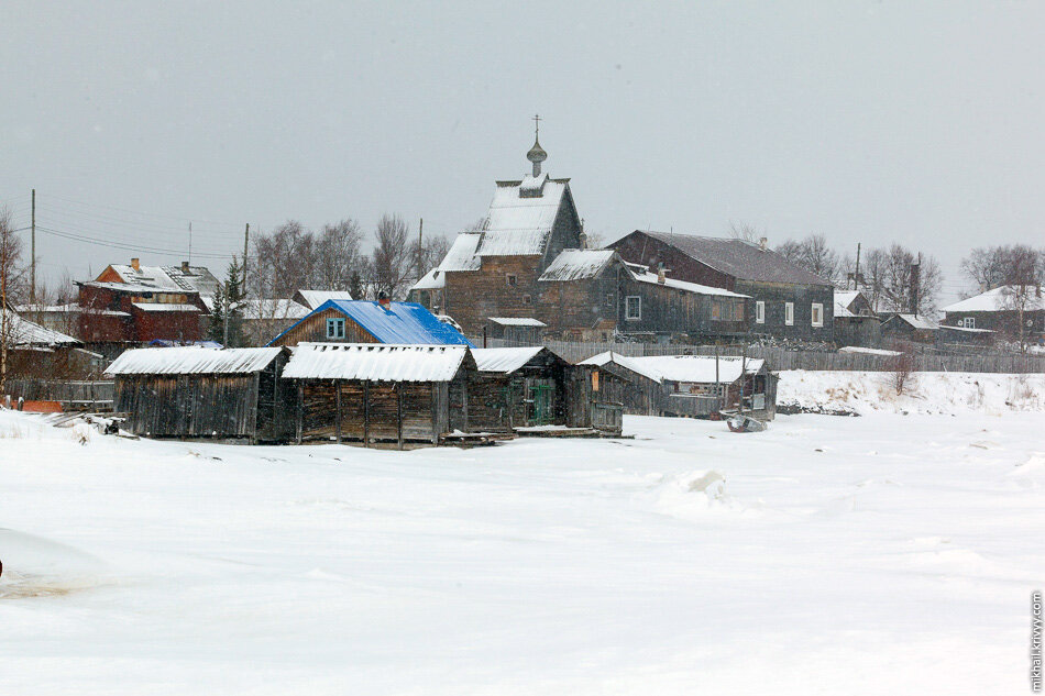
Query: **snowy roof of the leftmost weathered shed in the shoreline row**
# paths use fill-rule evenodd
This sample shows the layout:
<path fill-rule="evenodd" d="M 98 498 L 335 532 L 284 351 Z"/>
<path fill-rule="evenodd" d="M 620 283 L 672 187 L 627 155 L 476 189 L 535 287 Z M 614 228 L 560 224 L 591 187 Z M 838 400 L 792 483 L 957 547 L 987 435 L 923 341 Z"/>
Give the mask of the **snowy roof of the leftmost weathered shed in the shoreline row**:
<path fill-rule="evenodd" d="M 206 349 L 195 345 L 125 351 L 107 375 L 233 375 L 264 369 L 283 349 Z"/>

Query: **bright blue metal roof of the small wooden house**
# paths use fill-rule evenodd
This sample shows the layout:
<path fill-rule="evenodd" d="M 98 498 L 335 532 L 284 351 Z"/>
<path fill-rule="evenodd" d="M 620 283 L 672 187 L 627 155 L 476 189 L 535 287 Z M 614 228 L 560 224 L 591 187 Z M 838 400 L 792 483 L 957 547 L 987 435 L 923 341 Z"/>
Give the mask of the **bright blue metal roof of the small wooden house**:
<path fill-rule="evenodd" d="M 389 302 L 388 309 L 370 300 L 327 300 L 293 327 L 268 342 L 274 344 L 302 321 L 318 312 L 336 309 L 380 343 L 407 343 L 425 345 L 472 345 L 464 334 L 450 324 L 439 321 L 433 313 L 417 302 Z"/>

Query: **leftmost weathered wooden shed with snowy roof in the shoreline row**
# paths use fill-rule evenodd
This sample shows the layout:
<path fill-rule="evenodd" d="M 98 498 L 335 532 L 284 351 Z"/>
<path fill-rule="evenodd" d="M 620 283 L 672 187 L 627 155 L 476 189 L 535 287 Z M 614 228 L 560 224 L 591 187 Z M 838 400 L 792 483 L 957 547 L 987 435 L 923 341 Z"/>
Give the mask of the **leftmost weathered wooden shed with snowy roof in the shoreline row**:
<path fill-rule="evenodd" d="M 106 371 L 124 429 L 153 438 L 280 442 L 293 434 L 294 394 L 280 379 L 286 349 L 195 346 L 127 351 Z"/>

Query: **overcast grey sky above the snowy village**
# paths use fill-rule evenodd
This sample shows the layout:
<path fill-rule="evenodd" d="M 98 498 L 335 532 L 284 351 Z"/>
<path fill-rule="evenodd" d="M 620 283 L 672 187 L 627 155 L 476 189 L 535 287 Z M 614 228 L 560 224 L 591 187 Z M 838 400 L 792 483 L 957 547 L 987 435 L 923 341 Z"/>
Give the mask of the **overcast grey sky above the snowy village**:
<path fill-rule="evenodd" d="M 382 212 L 451 234 L 528 163 L 588 230 L 939 257 L 1045 243 L 1045 5 L 91 2 L 0 7 L 0 201 L 180 252 Z M 136 211 L 147 213 L 134 214 Z M 41 233 L 41 269 L 141 256 Z"/>

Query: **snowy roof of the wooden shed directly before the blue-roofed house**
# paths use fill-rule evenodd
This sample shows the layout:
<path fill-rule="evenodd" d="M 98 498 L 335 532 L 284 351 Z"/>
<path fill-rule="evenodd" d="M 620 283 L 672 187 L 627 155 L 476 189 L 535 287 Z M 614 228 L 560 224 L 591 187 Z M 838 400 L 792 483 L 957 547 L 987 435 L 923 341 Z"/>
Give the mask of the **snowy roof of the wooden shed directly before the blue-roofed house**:
<path fill-rule="evenodd" d="M 283 376 L 296 379 L 450 382 L 461 368 L 465 355 L 468 347 L 464 345 L 300 343 Z"/>

